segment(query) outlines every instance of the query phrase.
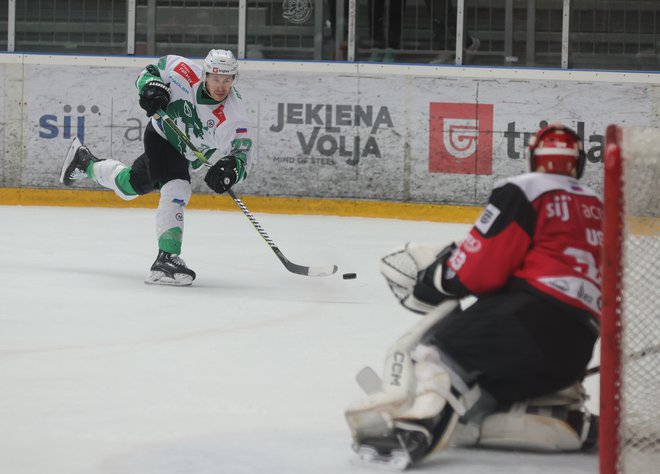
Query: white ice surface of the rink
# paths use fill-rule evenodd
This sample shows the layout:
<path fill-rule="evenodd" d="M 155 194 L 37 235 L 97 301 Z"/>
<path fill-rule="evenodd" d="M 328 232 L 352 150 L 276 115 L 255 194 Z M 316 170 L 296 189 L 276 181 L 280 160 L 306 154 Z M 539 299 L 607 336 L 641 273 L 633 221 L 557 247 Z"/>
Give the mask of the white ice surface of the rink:
<path fill-rule="evenodd" d="M 197 280 L 147 286 L 153 210 L 0 207 L 0 473 L 375 472 L 343 410 L 418 318 L 379 258 L 468 226 L 257 218 L 291 261 L 338 273 L 290 274 L 241 213 L 188 211 Z M 420 471 L 583 474 L 597 459 L 448 450 Z"/>

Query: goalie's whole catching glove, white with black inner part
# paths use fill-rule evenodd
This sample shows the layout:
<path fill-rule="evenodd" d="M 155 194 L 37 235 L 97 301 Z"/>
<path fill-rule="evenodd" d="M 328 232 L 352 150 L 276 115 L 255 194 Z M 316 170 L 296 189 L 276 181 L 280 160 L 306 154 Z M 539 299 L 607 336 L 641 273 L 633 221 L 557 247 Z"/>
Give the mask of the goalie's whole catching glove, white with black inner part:
<path fill-rule="evenodd" d="M 442 288 L 443 264 L 456 244 L 446 247 L 408 242 L 384 256 L 380 272 L 396 299 L 415 313 L 426 314 L 455 295 Z"/>

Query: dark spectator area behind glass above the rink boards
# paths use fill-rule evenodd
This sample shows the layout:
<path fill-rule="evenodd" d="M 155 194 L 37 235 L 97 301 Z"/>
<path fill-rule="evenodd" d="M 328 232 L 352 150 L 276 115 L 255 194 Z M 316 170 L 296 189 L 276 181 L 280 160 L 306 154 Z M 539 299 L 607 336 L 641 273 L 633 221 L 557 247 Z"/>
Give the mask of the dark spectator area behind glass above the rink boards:
<path fill-rule="evenodd" d="M 211 48 L 226 48 L 239 58 L 273 60 L 645 71 L 660 65 L 657 0 L 29 0 L 0 5 L 0 50 L 19 53 L 159 56 L 176 51 L 199 57 Z"/>

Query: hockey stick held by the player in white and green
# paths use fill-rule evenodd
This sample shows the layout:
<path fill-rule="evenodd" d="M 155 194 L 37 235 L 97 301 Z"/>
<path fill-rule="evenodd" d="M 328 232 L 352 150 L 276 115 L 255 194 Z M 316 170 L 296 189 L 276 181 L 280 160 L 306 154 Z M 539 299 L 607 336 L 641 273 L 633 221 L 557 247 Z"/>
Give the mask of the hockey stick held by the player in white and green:
<path fill-rule="evenodd" d="M 167 114 L 162 109 L 158 109 L 158 111 L 154 114 L 156 118 L 161 118 L 165 124 L 174 132 L 177 134 L 177 136 L 183 141 L 183 143 L 186 144 L 186 146 L 194 153 L 194 155 L 199 158 L 199 161 L 204 163 L 206 166 L 210 166 L 209 161 L 206 159 L 206 156 L 202 152 L 200 152 L 195 145 L 192 144 L 188 136 L 183 133 L 179 127 L 177 127 L 176 123 L 172 118 Z M 334 274 L 337 271 L 337 265 L 328 265 L 325 267 L 306 267 L 304 265 L 297 265 L 293 262 L 291 262 L 288 258 L 284 256 L 282 251 L 275 245 L 275 242 L 270 238 L 270 236 L 266 233 L 266 231 L 261 227 L 261 224 L 255 219 L 255 217 L 252 215 L 252 213 L 248 210 L 248 208 L 243 204 L 243 201 L 234 194 L 234 191 L 231 189 L 227 190 L 227 194 L 234 200 L 236 205 L 239 207 L 241 211 L 243 211 L 243 214 L 245 214 L 245 217 L 248 218 L 252 226 L 259 232 L 259 235 L 266 241 L 270 249 L 277 255 L 277 258 L 280 259 L 280 262 L 286 267 L 287 270 L 289 270 L 291 273 L 295 273 L 297 275 L 306 275 L 306 276 L 330 276 Z"/>

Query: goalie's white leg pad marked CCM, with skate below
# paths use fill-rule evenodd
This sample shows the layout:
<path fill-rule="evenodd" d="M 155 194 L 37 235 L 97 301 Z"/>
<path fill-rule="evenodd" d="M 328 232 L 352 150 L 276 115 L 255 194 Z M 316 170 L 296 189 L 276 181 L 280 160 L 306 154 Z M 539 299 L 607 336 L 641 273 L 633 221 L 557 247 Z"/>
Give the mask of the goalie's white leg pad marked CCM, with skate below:
<path fill-rule="evenodd" d="M 346 421 L 360 458 L 395 467 L 407 455 L 407 466 L 447 444 L 467 402 L 432 347 L 392 350 L 385 368 L 383 391 L 351 404 Z"/>

